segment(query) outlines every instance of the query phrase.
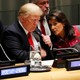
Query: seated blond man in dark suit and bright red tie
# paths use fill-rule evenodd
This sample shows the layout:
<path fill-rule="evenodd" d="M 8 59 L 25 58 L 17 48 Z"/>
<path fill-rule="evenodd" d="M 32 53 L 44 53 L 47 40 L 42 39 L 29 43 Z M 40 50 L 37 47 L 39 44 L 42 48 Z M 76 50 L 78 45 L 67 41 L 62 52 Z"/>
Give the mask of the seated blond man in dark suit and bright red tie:
<path fill-rule="evenodd" d="M 18 20 L 7 27 L 3 33 L 2 45 L 10 59 L 14 59 L 16 62 L 24 62 L 29 59 L 30 46 L 35 48 L 35 44 L 38 44 L 39 41 L 39 37 L 36 38 L 33 31 L 42 14 L 42 10 L 33 3 L 27 3 L 20 7 Z M 31 42 L 28 33 L 31 35 Z M 41 57 L 45 57 L 45 50 L 42 48 L 40 50 Z"/>

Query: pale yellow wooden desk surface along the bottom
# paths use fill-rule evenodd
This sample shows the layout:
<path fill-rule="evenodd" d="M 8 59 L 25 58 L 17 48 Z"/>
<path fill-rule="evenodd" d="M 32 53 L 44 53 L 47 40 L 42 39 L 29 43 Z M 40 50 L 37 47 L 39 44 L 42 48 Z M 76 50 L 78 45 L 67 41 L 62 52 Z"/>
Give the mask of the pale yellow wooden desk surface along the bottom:
<path fill-rule="evenodd" d="M 30 73 L 29 76 L 1 80 L 80 80 L 80 70 L 66 71 L 65 68 L 52 68 L 50 72 Z"/>

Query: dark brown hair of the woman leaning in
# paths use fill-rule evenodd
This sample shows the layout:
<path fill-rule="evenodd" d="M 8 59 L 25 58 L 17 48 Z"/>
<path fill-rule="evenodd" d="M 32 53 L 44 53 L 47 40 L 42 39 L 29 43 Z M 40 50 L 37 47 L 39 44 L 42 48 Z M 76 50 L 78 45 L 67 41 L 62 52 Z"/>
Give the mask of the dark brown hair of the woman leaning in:
<path fill-rule="evenodd" d="M 55 19 L 57 22 L 65 24 L 65 37 L 68 39 L 72 39 L 74 37 L 74 29 L 63 12 L 60 10 L 54 10 L 49 14 L 48 20 L 50 19 Z"/>

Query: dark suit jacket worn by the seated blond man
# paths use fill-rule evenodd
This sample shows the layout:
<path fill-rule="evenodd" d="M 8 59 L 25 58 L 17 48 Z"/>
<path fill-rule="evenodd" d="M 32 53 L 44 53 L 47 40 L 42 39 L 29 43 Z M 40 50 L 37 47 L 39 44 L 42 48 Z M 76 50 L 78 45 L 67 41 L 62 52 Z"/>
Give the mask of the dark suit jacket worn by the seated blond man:
<path fill-rule="evenodd" d="M 3 33 L 2 46 L 9 58 L 16 62 L 24 62 L 29 59 L 28 38 L 18 22 L 6 28 Z"/>

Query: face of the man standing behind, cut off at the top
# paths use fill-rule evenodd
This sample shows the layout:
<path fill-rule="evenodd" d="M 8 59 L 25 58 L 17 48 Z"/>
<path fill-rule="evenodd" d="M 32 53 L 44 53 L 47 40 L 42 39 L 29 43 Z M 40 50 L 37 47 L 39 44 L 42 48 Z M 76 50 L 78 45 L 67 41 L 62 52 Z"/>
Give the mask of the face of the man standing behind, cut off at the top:
<path fill-rule="evenodd" d="M 36 4 L 42 9 L 44 15 L 49 13 L 49 0 L 38 0 Z"/>

